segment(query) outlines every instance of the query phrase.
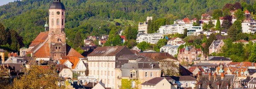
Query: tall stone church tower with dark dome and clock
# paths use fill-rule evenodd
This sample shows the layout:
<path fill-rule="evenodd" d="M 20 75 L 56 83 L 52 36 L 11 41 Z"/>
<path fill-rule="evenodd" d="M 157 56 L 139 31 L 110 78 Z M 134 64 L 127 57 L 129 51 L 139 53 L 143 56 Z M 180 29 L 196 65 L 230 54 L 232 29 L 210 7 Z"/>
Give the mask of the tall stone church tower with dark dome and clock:
<path fill-rule="evenodd" d="M 53 0 L 49 7 L 49 34 L 48 42 L 52 60 L 66 56 L 65 7 L 61 0 Z"/>

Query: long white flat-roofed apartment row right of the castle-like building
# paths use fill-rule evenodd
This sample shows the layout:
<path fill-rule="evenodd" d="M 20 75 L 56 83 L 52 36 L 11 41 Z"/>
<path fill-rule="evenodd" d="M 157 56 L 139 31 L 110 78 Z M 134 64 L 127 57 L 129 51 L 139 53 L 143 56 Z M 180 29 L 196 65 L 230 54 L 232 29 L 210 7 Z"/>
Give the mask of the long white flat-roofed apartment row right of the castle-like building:
<path fill-rule="evenodd" d="M 160 26 L 158 33 L 174 34 L 174 33 L 184 33 L 184 29 L 192 28 L 193 24 L 174 24 L 174 25 L 164 25 Z"/>

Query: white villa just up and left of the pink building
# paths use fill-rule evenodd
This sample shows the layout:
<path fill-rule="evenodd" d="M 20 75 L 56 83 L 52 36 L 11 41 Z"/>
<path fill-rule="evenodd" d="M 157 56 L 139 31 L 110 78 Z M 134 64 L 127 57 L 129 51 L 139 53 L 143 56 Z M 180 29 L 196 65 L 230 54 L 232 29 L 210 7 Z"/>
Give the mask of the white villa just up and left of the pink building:
<path fill-rule="evenodd" d="M 166 52 L 169 53 L 172 56 L 175 56 L 178 52 L 179 46 L 173 46 L 173 45 L 165 45 L 160 48 L 160 52 Z"/>

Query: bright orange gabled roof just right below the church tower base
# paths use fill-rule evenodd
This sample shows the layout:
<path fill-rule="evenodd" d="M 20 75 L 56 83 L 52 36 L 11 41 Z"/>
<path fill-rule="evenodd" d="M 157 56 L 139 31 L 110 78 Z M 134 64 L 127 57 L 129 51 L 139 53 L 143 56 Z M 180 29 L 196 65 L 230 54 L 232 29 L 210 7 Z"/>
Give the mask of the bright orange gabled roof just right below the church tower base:
<path fill-rule="evenodd" d="M 77 56 L 62 56 L 62 59 L 60 59 L 59 61 L 61 61 L 60 63 L 64 64 L 65 61 L 70 61 L 73 65 L 72 65 L 72 69 L 75 69 L 77 64 L 79 63 L 80 59 Z"/>

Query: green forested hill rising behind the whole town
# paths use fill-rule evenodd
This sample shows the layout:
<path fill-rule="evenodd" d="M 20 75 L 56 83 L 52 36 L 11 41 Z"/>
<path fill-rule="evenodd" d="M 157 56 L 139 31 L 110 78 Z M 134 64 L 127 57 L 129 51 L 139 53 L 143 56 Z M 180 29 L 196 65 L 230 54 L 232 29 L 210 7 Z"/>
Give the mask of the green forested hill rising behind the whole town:
<path fill-rule="evenodd" d="M 108 34 L 114 22 L 137 25 L 147 16 L 169 18 L 167 24 L 183 17 L 222 8 L 226 3 L 250 3 L 255 0 L 61 0 L 66 8 L 66 33 L 69 40 L 76 33 L 85 36 Z M 45 18 L 52 0 L 22 0 L 0 6 L 0 21 L 6 28 L 23 36 L 29 45 L 40 31 L 44 31 Z M 243 5 L 243 4 L 242 4 Z M 102 20 L 103 19 L 103 20 Z M 130 21 L 132 20 L 132 21 Z M 99 28 L 101 27 L 101 28 Z"/>

